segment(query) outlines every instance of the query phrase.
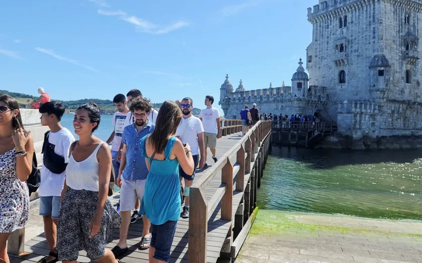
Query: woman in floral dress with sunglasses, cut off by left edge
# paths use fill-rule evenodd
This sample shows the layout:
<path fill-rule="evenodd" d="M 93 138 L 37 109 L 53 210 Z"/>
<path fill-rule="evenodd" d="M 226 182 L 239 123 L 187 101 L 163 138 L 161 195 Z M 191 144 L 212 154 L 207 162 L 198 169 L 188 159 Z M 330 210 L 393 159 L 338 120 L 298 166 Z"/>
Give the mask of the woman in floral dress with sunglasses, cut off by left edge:
<path fill-rule="evenodd" d="M 0 261 L 9 263 L 7 240 L 25 227 L 29 192 L 25 181 L 32 171 L 34 143 L 22 124 L 18 102 L 0 96 Z"/>

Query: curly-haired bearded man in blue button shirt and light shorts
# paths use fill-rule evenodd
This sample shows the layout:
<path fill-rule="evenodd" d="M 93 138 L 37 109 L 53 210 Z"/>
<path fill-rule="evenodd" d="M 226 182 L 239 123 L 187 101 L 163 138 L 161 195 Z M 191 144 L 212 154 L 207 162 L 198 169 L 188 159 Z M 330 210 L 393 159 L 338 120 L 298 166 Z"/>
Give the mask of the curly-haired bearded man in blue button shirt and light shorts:
<path fill-rule="evenodd" d="M 139 149 L 139 141 L 146 135 L 152 133 L 155 125 L 148 121 L 148 114 L 151 112 L 152 104 L 145 98 L 133 99 L 130 103 L 130 110 L 135 118 L 135 123 L 126 126 L 123 131 L 122 142 L 123 152 L 120 164 L 117 185 L 120 190 L 120 239 L 112 249 L 118 256 L 128 251 L 128 230 L 131 222 L 131 210 L 135 207 L 136 199 L 142 200 L 145 183 L 148 175 L 148 168 L 145 158 L 142 156 L 142 149 Z M 140 249 L 148 249 L 151 242 L 149 229 L 150 220 L 143 216 L 144 228 L 142 232 Z"/>

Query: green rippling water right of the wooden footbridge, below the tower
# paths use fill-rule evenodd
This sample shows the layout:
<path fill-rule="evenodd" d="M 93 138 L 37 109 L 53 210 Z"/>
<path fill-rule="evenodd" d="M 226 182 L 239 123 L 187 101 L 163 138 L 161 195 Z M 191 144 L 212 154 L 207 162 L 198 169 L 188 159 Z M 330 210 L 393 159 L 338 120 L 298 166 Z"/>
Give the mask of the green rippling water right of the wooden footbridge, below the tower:
<path fill-rule="evenodd" d="M 422 219 L 422 150 L 272 148 L 263 209 Z"/>

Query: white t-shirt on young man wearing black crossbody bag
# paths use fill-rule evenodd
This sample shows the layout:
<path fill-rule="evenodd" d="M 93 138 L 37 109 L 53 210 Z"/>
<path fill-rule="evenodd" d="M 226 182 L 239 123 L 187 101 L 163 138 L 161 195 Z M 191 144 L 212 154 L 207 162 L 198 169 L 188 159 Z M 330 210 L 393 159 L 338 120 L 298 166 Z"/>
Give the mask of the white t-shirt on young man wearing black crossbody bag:
<path fill-rule="evenodd" d="M 70 145 L 75 141 L 72 133 L 63 128 L 58 132 L 50 132 L 48 134 L 48 143 L 54 152 L 64 158 L 65 163 L 69 162 Z M 47 167 L 41 168 L 41 184 L 38 188 L 40 196 L 60 196 L 63 190 L 66 171 L 61 174 L 52 173 Z"/>

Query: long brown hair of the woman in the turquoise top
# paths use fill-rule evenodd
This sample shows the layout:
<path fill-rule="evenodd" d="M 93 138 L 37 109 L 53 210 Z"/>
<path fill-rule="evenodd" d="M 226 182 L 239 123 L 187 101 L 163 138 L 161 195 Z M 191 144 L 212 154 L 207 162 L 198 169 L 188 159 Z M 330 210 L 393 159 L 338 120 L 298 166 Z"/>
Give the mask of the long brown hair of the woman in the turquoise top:
<path fill-rule="evenodd" d="M 170 136 L 176 134 L 181 120 L 182 111 L 176 103 L 165 101 L 161 105 L 157 115 L 155 129 L 150 135 L 151 144 L 158 154 L 164 152 Z"/>

